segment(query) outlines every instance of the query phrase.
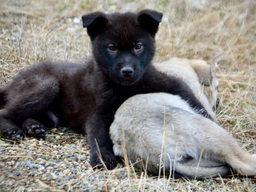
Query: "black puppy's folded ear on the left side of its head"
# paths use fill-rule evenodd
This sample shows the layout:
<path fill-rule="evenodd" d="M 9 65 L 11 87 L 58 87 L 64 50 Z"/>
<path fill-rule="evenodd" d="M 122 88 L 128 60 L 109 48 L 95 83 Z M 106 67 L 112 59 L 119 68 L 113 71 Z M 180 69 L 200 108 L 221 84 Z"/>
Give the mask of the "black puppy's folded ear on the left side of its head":
<path fill-rule="evenodd" d="M 108 23 L 106 15 L 102 12 L 89 13 L 82 16 L 83 28 L 87 28 L 90 38 L 95 38 Z"/>

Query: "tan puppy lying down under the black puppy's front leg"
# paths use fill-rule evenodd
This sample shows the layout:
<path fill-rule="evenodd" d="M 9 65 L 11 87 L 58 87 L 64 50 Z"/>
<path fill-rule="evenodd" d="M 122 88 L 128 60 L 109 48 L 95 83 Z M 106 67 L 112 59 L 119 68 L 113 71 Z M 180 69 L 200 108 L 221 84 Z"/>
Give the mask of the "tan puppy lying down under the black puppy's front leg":
<path fill-rule="evenodd" d="M 173 64 L 175 60 L 179 65 Z M 218 81 L 205 67 L 207 63 L 174 58 L 161 66 L 160 70 L 184 79 L 195 94 L 207 82 L 212 83 L 211 96 L 205 90 L 200 94 L 201 102 L 205 97 L 209 99 L 204 106 L 211 109 Z M 202 178 L 227 175 L 230 166 L 243 175 L 256 175 L 256 157 L 239 147 L 216 122 L 198 115 L 178 95 L 150 93 L 131 97 L 116 111 L 110 135 L 116 156 L 127 156 L 135 166 L 142 165 L 154 174 Z"/>

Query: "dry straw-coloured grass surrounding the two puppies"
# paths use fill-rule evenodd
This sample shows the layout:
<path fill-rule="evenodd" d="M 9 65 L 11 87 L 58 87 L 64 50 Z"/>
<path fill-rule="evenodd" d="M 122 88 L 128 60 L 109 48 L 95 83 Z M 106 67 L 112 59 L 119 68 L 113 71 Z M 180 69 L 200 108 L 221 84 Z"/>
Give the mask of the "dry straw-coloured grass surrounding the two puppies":
<path fill-rule="evenodd" d="M 243 148 L 256 152 L 256 3 L 247 1 L 0 1 L 0 84 L 10 81 L 24 67 L 39 60 L 68 60 L 81 62 L 90 54 L 90 42 L 81 21 L 83 13 L 102 11 L 137 11 L 154 8 L 164 13 L 157 33 L 156 61 L 170 57 L 202 58 L 215 69 L 220 79 L 220 108 L 218 120 Z M 78 140 L 78 139 L 77 139 Z M 22 145 L 32 145 L 26 140 Z M 43 141 L 47 144 L 51 141 Z M 48 143 L 48 144 L 49 144 Z M 48 145 L 47 144 L 47 145 Z M 51 145 L 49 146 L 51 147 Z M 0 143 L 1 186 L 13 178 L 3 171 L 6 159 L 20 161 L 19 145 L 4 147 Z M 60 145 L 64 146 L 63 143 Z M 6 145 L 7 146 L 7 145 Z M 66 145 L 65 145 L 66 146 Z M 36 150 L 37 148 L 35 148 Z M 15 154 L 3 155 L 8 150 Z M 33 150 L 33 149 L 31 149 Z M 49 147 L 47 148 L 49 150 Z M 22 153 L 23 154 L 23 153 Z M 86 152 L 82 152 L 86 155 Z M 8 161 L 9 162 L 9 161 Z M 10 166 L 13 168 L 13 166 Z M 89 171 L 88 171 L 89 170 Z M 185 180 L 154 178 L 134 172 L 132 168 L 96 172 L 84 170 L 77 182 L 100 177 L 100 188 L 77 186 L 76 182 L 62 188 L 31 176 L 22 182 L 14 178 L 10 191 L 31 191 L 33 185 L 44 191 L 255 191 L 255 179 L 244 177 Z M 11 172 L 11 171 L 10 171 Z M 86 175 L 87 174 L 87 175 Z M 4 180 L 3 180 L 4 179 Z M 116 180 L 116 182 L 114 182 Z M 19 188 L 22 184 L 24 188 Z M 18 186 L 18 187 L 17 187 Z M 1 189 L 0 189 L 1 190 Z M 32 191 L 33 191 L 32 190 Z"/>

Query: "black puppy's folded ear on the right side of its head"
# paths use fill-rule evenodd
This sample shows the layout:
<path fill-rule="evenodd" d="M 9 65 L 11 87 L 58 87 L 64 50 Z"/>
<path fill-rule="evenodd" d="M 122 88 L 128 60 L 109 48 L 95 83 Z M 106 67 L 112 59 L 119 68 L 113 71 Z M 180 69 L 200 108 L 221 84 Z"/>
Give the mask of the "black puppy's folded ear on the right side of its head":
<path fill-rule="evenodd" d="M 159 22 L 161 22 L 162 17 L 163 13 L 156 12 L 154 10 L 141 10 L 141 12 L 138 13 L 138 21 L 141 26 L 153 37 L 156 35 Z"/>

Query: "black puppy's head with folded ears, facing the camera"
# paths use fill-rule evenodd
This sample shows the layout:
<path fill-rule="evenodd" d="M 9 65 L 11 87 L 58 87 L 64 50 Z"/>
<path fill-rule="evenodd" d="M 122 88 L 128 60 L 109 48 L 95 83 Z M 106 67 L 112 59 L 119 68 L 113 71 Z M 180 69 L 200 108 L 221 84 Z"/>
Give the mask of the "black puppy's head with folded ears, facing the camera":
<path fill-rule="evenodd" d="M 140 80 L 154 56 L 154 36 L 162 16 L 153 10 L 83 15 L 93 56 L 110 79 L 124 86 Z"/>

